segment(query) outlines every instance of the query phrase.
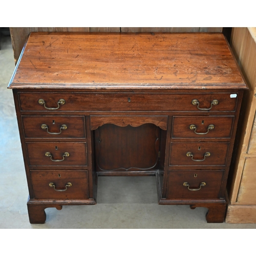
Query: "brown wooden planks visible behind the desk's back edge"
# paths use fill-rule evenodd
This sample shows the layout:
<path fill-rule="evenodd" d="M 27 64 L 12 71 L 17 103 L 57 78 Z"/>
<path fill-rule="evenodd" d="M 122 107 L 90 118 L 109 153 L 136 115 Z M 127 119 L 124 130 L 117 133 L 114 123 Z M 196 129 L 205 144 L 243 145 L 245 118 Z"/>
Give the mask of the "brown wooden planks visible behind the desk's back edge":
<path fill-rule="evenodd" d="M 10 28 L 15 63 L 30 32 L 222 32 L 222 28 Z"/>

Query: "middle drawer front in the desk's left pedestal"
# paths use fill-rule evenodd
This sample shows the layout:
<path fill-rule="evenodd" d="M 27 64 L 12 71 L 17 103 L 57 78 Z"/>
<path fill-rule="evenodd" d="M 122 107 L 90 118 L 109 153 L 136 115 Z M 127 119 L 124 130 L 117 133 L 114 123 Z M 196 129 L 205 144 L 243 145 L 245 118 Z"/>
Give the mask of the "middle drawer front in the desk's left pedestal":
<path fill-rule="evenodd" d="M 27 142 L 26 145 L 29 165 L 87 166 L 87 143 Z"/>

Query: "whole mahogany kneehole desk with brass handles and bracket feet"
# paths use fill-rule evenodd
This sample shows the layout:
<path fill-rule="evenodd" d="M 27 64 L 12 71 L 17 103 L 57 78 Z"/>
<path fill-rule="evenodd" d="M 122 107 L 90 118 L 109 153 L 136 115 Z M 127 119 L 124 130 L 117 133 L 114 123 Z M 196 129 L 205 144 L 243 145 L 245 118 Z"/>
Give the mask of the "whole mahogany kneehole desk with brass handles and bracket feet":
<path fill-rule="evenodd" d="M 159 204 L 223 222 L 243 90 L 219 33 L 31 33 L 10 81 L 30 223 L 96 204 L 97 177 L 156 176 Z"/>

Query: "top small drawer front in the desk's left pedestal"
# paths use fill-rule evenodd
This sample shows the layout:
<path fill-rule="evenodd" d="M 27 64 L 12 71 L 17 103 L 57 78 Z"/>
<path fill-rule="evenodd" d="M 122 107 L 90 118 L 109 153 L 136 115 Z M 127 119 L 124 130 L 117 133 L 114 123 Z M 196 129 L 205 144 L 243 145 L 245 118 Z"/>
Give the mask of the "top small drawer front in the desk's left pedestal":
<path fill-rule="evenodd" d="M 84 116 L 22 116 L 25 138 L 86 138 Z"/>

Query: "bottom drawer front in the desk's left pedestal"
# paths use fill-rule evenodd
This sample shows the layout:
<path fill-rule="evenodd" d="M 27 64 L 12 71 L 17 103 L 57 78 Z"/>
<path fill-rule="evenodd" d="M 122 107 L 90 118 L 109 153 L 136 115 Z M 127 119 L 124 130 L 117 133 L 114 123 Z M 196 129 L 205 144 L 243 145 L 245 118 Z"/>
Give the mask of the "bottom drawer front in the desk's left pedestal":
<path fill-rule="evenodd" d="M 35 199 L 89 198 L 87 170 L 31 170 L 30 176 Z"/>

